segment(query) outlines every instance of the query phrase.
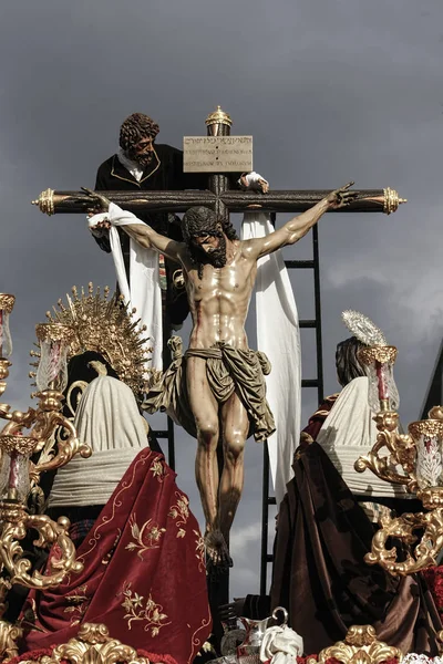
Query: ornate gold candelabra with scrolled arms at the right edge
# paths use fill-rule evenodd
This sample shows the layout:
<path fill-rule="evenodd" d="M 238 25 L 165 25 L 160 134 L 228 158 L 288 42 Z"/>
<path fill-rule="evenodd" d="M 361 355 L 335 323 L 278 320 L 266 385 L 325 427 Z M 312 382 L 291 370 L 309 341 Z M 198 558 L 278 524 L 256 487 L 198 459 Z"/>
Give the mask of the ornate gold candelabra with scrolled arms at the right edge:
<path fill-rule="evenodd" d="M 382 516 L 365 556 L 370 564 L 406 575 L 436 564 L 443 548 L 443 407 L 433 407 L 429 419 L 411 423 L 408 434 L 399 433 L 392 375 L 395 359 L 394 346 L 373 345 L 359 351 L 359 360 L 368 369 L 369 404 L 377 413 L 373 419 L 379 433 L 371 452 L 360 457 L 354 468 L 359 473 L 369 468 L 380 479 L 403 485 L 423 504 L 422 512 Z M 406 544 L 402 560 L 396 547 L 389 547 L 389 538 Z"/>

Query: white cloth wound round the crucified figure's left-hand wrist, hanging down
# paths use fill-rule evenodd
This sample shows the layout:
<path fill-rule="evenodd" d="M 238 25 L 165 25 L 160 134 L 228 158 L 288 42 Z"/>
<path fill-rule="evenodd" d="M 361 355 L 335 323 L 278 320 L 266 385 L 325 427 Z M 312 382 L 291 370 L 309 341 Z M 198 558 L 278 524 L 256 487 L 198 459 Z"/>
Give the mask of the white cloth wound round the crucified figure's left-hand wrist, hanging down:
<path fill-rule="evenodd" d="M 111 203 L 107 212 L 100 212 L 89 219 L 90 228 L 104 219 L 111 222 L 110 243 L 112 258 L 120 292 L 125 303 L 136 309 L 135 317 L 140 324 L 146 326 L 144 335 L 148 338 L 146 347 L 152 347 L 150 367 L 163 370 L 163 323 L 162 323 L 162 289 L 159 283 L 158 253 L 153 249 L 145 249 L 130 238 L 130 283 L 124 267 L 122 246 L 120 243 L 117 226 L 128 224 L 144 225 L 135 215 Z"/>

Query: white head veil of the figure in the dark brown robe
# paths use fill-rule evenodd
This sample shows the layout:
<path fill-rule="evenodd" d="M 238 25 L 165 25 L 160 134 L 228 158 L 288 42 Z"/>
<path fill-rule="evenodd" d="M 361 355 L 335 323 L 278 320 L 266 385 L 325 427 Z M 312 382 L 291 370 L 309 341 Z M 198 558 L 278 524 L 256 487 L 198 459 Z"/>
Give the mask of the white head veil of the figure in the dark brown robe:
<path fill-rule="evenodd" d="M 365 456 L 377 439 L 377 427 L 368 403 L 369 378 L 354 378 L 340 392 L 317 436 L 352 494 L 411 498 L 404 486 L 379 479 L 371 470 L 357 473 L 353 465 Z M 396 468 L 396 471 L 400 471 Z"/>

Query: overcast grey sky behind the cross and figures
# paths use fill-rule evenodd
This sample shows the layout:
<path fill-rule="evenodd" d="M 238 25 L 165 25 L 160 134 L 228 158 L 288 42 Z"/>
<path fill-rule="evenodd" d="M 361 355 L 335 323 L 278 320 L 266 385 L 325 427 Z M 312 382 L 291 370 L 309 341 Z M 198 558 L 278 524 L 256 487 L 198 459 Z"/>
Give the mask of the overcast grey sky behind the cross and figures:
<path fill-rule="evenodd" d="M 354 179 L 409 198 L 391 217 L 320 222 L 324 370 L 330 393 L 340 312 L 359 309 L 399 347 L 403 422 L 419 416 L 443 326 L 441 0 L 3 0 L 0 62 L 0 290 L 18 298 L 6 401 L 28 403 L 27 354 L 44 312 L 73 283 L 114 283 L 82 217 L 43 217 L 30 200 L 93 185 L 130 113 L 150 113 L 158 142 L 181 146 L 220 104 L 233 133 L 254 135 L 255 168 L 274 188 Z M 310 238 L 291 256 L 309 257 Z M 310 287 L 296 277 L 309 318 Z M 311 377 L 308 339 L 303 360 Z M 316 398 L 305 393 L 306 417 Z M 200 513 L 194 443 L 177 439 L 178 481 Z M 248 444 L 234 594 L 257 590 L 260 460 Z"/>

